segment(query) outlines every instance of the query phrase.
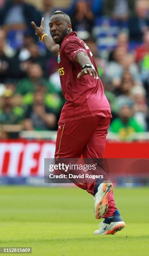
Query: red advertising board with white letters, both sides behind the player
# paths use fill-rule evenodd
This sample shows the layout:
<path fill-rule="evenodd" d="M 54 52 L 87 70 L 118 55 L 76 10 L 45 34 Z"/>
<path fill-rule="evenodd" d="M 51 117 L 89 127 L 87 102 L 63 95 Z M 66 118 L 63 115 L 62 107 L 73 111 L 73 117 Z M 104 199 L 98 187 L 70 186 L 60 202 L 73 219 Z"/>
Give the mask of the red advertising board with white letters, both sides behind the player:
<path fill-rule="evenodd" d="M 44 158 L 54 158 L 52 141 L 0 141 L 0 176 L 44 176 Z M 107 142 L 105 158 L 149 158 L 149 143 Z"/>

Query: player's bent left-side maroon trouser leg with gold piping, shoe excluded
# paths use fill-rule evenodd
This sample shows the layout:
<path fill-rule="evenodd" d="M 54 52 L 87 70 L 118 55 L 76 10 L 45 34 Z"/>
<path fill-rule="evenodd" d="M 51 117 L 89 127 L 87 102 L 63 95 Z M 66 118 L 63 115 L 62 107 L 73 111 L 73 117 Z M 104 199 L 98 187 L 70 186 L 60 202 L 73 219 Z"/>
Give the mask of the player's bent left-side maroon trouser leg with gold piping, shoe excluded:
<path fill-rule="evenodd" d="M 84 118 L 59 125 L 55 158 L 59 159 L 58 161 L 67 158 L 81 158 L 83 148 L 93 135 L 98 125 L 98 120 L 98 117 Z M 74 162 L 74 164 L 76 164 L 76 162 Z M 82 189 L 87 190 L 88 188 L 86 182 L 85 184 L 77 181 L 73 182 Z"/>

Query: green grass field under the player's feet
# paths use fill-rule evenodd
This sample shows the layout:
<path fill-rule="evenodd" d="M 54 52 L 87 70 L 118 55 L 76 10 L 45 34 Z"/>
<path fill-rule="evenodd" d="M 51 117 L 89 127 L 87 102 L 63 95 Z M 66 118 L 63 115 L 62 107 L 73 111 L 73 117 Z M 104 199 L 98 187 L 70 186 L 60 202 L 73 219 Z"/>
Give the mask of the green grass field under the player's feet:
<path fill-rule="evenodd" d="M 149 255 L 149 188 L 115 188 L 114 195 L 126 228 L 94 236 L 99 221 L 86 191 L 0 187 L 0 247 L 32 247 L 35 256 Z"/>

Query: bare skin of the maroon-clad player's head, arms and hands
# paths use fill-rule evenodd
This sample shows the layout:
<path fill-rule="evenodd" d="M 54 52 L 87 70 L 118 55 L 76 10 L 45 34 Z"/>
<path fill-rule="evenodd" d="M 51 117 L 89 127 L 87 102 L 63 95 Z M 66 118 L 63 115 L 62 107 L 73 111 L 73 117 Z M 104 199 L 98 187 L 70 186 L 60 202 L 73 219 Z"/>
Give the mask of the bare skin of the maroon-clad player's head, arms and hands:
<path fill-rule="evenodd" d="M 36 36 L 41 38 L 41 36 L 45 33 L 44 18 L 41 20 L 40 27 L 37 27 L 33 21 L 31 24 L 33 28 L 35 28 Z M 61 45 L 63 38 L 72 32 L 71 22 L 67 16 L 65 17 L 63 14 L 56 14 L 51 17 L 49 27 L 52 38 L 46 35 L 43 38 L 43 42 L 49 51 L 58 56 L 59 46 Z M 85 64 L 90 64 L 92 66 L 90 58 L 86 53 L 83 52 L 79 52 L 76 55 L 76 62 L 78 62 L 81 67 L 83 67 Z M 77 78 L 79 79 L 81 76 L 86 76 L 87 74 L 93 76 L 94 79 L 98 77 L 95 69 L 85 68 L 82 69 Z"/>

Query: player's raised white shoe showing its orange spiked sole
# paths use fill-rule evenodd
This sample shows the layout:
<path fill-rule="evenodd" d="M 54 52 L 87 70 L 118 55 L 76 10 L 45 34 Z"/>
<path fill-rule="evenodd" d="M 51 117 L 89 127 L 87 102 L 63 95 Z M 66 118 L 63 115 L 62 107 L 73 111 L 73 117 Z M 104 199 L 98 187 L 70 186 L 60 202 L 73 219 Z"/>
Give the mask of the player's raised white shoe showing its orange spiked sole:
<path fill-rule="evenodd" d="M 94 197 L 96 219 L 101 219 L 104 217 L 104 215 L 106 215 L 106 212 L 108 211 L 108 197 L 112 187 L 113 185 L 109 181 L 101 183 L 99 185 L 98 192 Z"/>

